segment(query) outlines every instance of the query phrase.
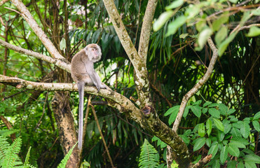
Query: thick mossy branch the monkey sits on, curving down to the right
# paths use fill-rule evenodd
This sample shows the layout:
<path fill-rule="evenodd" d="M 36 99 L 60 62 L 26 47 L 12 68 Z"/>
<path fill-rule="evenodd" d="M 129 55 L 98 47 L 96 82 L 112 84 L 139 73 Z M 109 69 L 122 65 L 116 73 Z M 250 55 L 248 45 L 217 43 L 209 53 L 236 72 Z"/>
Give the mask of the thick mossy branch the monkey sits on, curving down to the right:
<path fill-rule="evenodd" d="M 20 78 L 13 78 L 0 75 L 0 83 L 6 85 L 13 85 L 17 88 L 24 88 L 27 90 L 48 90 L 48 91 L 77 91 L 78 87 L 72 83 L 36 83 Z M 155 113 L 154 109 L 150 106 L 146 106 L 140 111 L 135 104 L 117 92 L 112 90 L 100 90 L 97 92 L 95 87 L 85 87 L 85 92 L 89 94 L 100 95 L 107 99 L 109 106 L 113 106 L 121 113 L 126 113 L 128 117 L 135 120 L 145 130 L 153 132 L 154 135 L 160 137 L 162 141 L 170 145 L 177 154 L 177 162 L 182 167 L 189 167 L 189 151 L 184 141 L 174 132 L 170 127 L 167 127 Z M 146 115 L 142 115 L 145 113 Z"/>

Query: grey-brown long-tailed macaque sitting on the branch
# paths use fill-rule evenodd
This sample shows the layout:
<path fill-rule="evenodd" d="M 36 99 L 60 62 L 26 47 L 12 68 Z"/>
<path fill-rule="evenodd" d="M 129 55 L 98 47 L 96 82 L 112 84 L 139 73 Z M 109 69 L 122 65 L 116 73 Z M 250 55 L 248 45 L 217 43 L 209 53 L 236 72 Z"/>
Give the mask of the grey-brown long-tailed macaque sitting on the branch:
<path fill-rule="evenodd" d="M 100 89 L 106 89 L 107 85 L 101 82 L 100 76 L 94 69 L 94 62 L 101 59 L 100 46 L 92 43 L 88 44 L 83 50 L 76 53 L 71 61 L 71 76 L 78 85 L 78 149 L 82 148 L 83 141 L 83 102 L 84 102 L 84 87 L 85 85 L 97 87 L 97 92 Z"/>

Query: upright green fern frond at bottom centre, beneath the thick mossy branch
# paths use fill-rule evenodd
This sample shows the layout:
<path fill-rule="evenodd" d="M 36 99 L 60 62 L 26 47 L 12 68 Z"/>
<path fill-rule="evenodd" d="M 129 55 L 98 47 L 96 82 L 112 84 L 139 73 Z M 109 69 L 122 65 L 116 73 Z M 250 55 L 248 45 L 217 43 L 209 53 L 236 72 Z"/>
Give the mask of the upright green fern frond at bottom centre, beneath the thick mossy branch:
<path fill-rule="evenodd" d="M 158 161 L 155 159 L 157 151 L 156 149 L 149 144 L 149 141 L 144 139 L 144 144 L 141 148 L 140 158 L 139 158 L 139 167 L 158 167 Z"/>

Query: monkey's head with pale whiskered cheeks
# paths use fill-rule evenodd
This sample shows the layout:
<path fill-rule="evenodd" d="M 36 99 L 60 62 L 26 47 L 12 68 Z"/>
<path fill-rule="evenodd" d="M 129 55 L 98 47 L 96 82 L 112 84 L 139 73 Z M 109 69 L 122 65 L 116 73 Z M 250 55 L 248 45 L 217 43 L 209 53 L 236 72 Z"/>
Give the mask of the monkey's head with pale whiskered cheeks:
<path fill-rule="evenodd" d="M 88 44 L 85 47 L 85 55 L 88 55 L 88 59 L 92 62 L 98 62 L 101 59 L 101 48 L 95 43 Z"/>

